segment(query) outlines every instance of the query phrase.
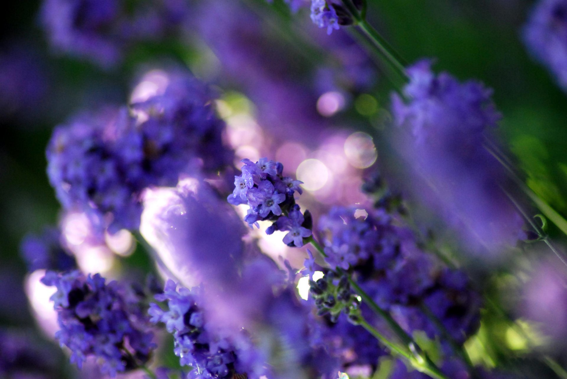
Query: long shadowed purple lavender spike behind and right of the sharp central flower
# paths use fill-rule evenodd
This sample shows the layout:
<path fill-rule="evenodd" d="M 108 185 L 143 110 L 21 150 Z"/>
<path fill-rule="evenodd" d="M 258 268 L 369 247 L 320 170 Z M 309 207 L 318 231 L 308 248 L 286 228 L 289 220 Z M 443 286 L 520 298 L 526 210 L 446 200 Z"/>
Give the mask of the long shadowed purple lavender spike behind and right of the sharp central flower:
<path fill-rule="evenodd" d="M 431 337 L 441 333 L 424 313 L 427 307 L 451 338 L 464 343 L 479 327 L 481 305 L 466 275 L 442 267 L 417 246 L 411 231 L 394 226 L 383 209 L 359 217 L 355 212 L 335 208 L 320 219 L 329 266 L 356 276 L 376 304 L 391 311 L 408 332 L 425 330 Z M 308 260 L 306 266 L 311 265 Z"/>

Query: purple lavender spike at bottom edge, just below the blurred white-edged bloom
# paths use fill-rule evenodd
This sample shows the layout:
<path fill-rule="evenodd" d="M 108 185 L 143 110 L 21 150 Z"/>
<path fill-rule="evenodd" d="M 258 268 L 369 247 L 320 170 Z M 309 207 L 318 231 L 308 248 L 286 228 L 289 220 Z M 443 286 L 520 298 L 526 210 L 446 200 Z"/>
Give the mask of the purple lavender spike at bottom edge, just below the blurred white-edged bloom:
<path fill-rule="evenodd" d="M 233 378 L 248 374 L 234 344 L 223 338 L 207 322 L 204 311 L 198 306 L 198 288 L 177 288 L 168 280 L 162 294 L 155 299 L 167 302 L 167 309 L 150 304 L 151 322 L 164 323 L 175 338 L 175 355 L 181 366 L 191 366 L 187 378 Z"/>

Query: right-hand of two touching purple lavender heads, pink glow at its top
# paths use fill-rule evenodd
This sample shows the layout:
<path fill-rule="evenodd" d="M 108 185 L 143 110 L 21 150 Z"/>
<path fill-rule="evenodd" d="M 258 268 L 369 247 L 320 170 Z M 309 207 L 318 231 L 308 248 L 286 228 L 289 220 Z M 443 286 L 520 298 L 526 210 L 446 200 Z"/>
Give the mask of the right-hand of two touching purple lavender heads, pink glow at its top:
<path fill-rule="evenodd" d="M 157 76 L 157 78 L 155 78 Z M 143 83 L 159 83 L 151 95 Z M 163 85 L 163 83 L 167 85 Z M 122 141 L 122 159 L 142 186 L 175 186 L 180 172 L 217 173 L 232 163 L 222 141 L 225 123 L 215 115 L 213 92 L 181 69 L 151 70 L 139 79 L 130 108 L 134 124 Z"/>

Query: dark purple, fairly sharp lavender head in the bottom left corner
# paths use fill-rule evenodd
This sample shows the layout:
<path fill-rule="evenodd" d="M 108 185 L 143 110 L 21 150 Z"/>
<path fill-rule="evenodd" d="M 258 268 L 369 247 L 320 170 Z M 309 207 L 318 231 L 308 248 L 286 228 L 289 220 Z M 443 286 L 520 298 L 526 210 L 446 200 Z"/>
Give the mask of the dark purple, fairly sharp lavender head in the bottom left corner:
<path fill-rule="evenodd" d="M 155 344 L 140 298 L 99 274 L 48 271 L 41 281 L 57 288 L 50 298 L 61 328 L 56 338 L 70 349 L 72 363 L 81 368 L 94 356 L 113 377 L 149 361 Z"/>

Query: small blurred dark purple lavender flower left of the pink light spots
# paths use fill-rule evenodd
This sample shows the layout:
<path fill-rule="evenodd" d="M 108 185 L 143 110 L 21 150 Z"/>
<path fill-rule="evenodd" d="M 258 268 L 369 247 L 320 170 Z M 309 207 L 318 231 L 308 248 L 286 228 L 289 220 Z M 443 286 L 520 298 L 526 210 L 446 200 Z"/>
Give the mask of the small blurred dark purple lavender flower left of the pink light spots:
<path fill-rule="evenodd" d="M 61 232 L 57 228 L 45 228 L 41 235 L 27 235 L 20 251 L 30 272 L 40 268 L 68 271 L 77 267 L 73 255 L 61 245 Z"/>

